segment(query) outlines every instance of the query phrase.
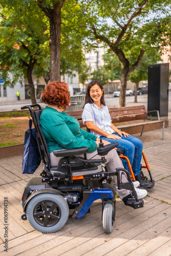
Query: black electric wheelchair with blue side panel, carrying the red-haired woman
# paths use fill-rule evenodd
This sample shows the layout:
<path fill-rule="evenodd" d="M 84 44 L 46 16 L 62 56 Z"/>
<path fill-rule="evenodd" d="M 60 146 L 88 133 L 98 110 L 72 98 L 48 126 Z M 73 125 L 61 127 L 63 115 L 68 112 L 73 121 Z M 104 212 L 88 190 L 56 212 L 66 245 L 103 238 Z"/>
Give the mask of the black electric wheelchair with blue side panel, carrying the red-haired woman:
<path fill-rule="evenodd" d="M 34 111 L 34 107 L 38 110 Z M 52 233 L 61 229 L 69 216 L 83 218 L 90 212 L 91 204 L 102 201 L 102 226 L 106 233 L 112 232 L 116 216 L 115 190 L 108 183 L 111 176 L 117 176 L 118 189 L 131 190 L 132 199 L 123 201 L 134 209 L 143 207 L 143 200 L 137 198 L 132 179 L 124 168 L 117 168 L 116 173 L 108 172 L 105 165 L 105 155 L 118 143 L 103 145 L 100 142 L 98 155 L 101 159 L 87 159 L 88 147 L 54 151 L 56 157 L 61 157 L 58 166 L 51 167 L 50 154 L 44 134 L 41 131 L 39 104 L 23 106 L 29 109 L 35 126 L 38 150 L 41 156 L 43 170 L 40 177 L 31 178 L 25 187 L 22 197 L 23 220 L 28 220 L 31 226 L 43 233 Z M 83 157 L 77 157 L 78 155 Z M 126 175 L 127 183 L 122 182 Z"/>

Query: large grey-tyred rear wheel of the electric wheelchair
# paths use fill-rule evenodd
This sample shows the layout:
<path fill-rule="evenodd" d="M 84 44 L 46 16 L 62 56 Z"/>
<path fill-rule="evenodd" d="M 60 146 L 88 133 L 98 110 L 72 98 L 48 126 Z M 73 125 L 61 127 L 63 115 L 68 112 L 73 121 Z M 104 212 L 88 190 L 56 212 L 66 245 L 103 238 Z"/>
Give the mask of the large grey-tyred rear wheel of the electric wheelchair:
<path fill-rule="evenodd" d="M 69 207 L 62 196 L 42 193 L 30 200 L 26 215 L 30 225 L 36 230 L 42 233 L 53 233 L 66 224 Z"/>

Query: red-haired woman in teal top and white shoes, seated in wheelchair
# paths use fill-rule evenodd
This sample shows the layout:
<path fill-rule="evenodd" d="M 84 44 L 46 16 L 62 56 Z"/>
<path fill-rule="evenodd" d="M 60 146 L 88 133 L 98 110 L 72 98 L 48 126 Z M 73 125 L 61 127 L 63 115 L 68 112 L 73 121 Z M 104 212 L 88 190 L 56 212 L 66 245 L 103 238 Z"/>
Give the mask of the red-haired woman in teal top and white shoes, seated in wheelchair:
<path fill-rule="evenodd" d="M 79 151 L 79 148 L 86 146 L 89 148 L 87 159 L 91 159 L 94 156 L 96 156 L 96 159 L 101 159 L 101 156 L 97 154 L 100 139 L 94 134 L 80 129 L 79 122 L 65 112 L 70 103 L 68 84 L 60 81 L 50 82 L 42 93 L 41 99 L 48 104 L 41 113 L 40 125 L 49 148 L 51 166 L 57 166 L 61 159 L 61 157 L 54 156 L 53 151 L 55 150 L 78 148 Z M 110 144 L 110 142 L 105 140 L 102 142 L 104 144 Z M 79 156 L 82 157 L 82 155 Z M 108 155 L 105 156 L 105 159 L 109 172 L 116 172 L 117 167 L 123 168 L 122 162 L 115 149 L 111 150 Z M 112 185 L 114 189 L 117 190 L 120 199 L 123 201 L 131 199 L 132 194 L 130 190 L 117 189 L 117 178 L 116 176 L 111 177 Z M 122 179 L 122 182 L 127 182 L 126 176 Z M 138 199 L 142 199 L 147 195 L 145 189 L 135 188 L 135 190 Z"/>

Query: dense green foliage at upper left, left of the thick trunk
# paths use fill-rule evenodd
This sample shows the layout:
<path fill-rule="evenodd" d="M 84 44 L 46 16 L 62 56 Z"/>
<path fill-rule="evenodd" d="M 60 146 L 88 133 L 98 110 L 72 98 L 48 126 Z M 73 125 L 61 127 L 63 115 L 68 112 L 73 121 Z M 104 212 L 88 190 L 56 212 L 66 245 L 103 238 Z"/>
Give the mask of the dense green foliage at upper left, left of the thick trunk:
<path fill-rule="evenodd" d="M 23 74 L 26 78 L 28 66 L 33 62 L 39 66 L 44 59 L 44 44 L 49 33 L 46 20 L 36 7 L 37 5 L 29 5 L 27 8 L 4 6 L 1 9 L 0 66 L 5 86 L 13 87 L 16 81 L 23 84 Z"/>

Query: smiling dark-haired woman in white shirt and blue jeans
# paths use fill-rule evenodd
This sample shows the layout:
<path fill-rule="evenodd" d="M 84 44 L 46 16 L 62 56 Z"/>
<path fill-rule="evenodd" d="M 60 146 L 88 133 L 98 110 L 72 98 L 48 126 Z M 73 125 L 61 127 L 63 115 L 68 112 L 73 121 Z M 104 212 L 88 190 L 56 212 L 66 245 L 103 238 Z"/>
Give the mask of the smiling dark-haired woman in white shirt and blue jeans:
<path fill-rule="evenodd" d="M 142 141 L 128 133 L 119 131 L 112 123 L 104 101 L 104 90 L 99 81 L 91 81 L 88 85 L 82 121 L 87 125 L 91 134 L 111 143 L 119 142 L 118 148 L 122 148 L 125 151 L 124 156 L 129 158 L 135 179 L 139 181 L 140 186 L 148 186 L 148 182 L 142 180 L 140 176 Z M 129 170 L 126 160 L 123 160 L 123 165 L 125 169 Z"/>

